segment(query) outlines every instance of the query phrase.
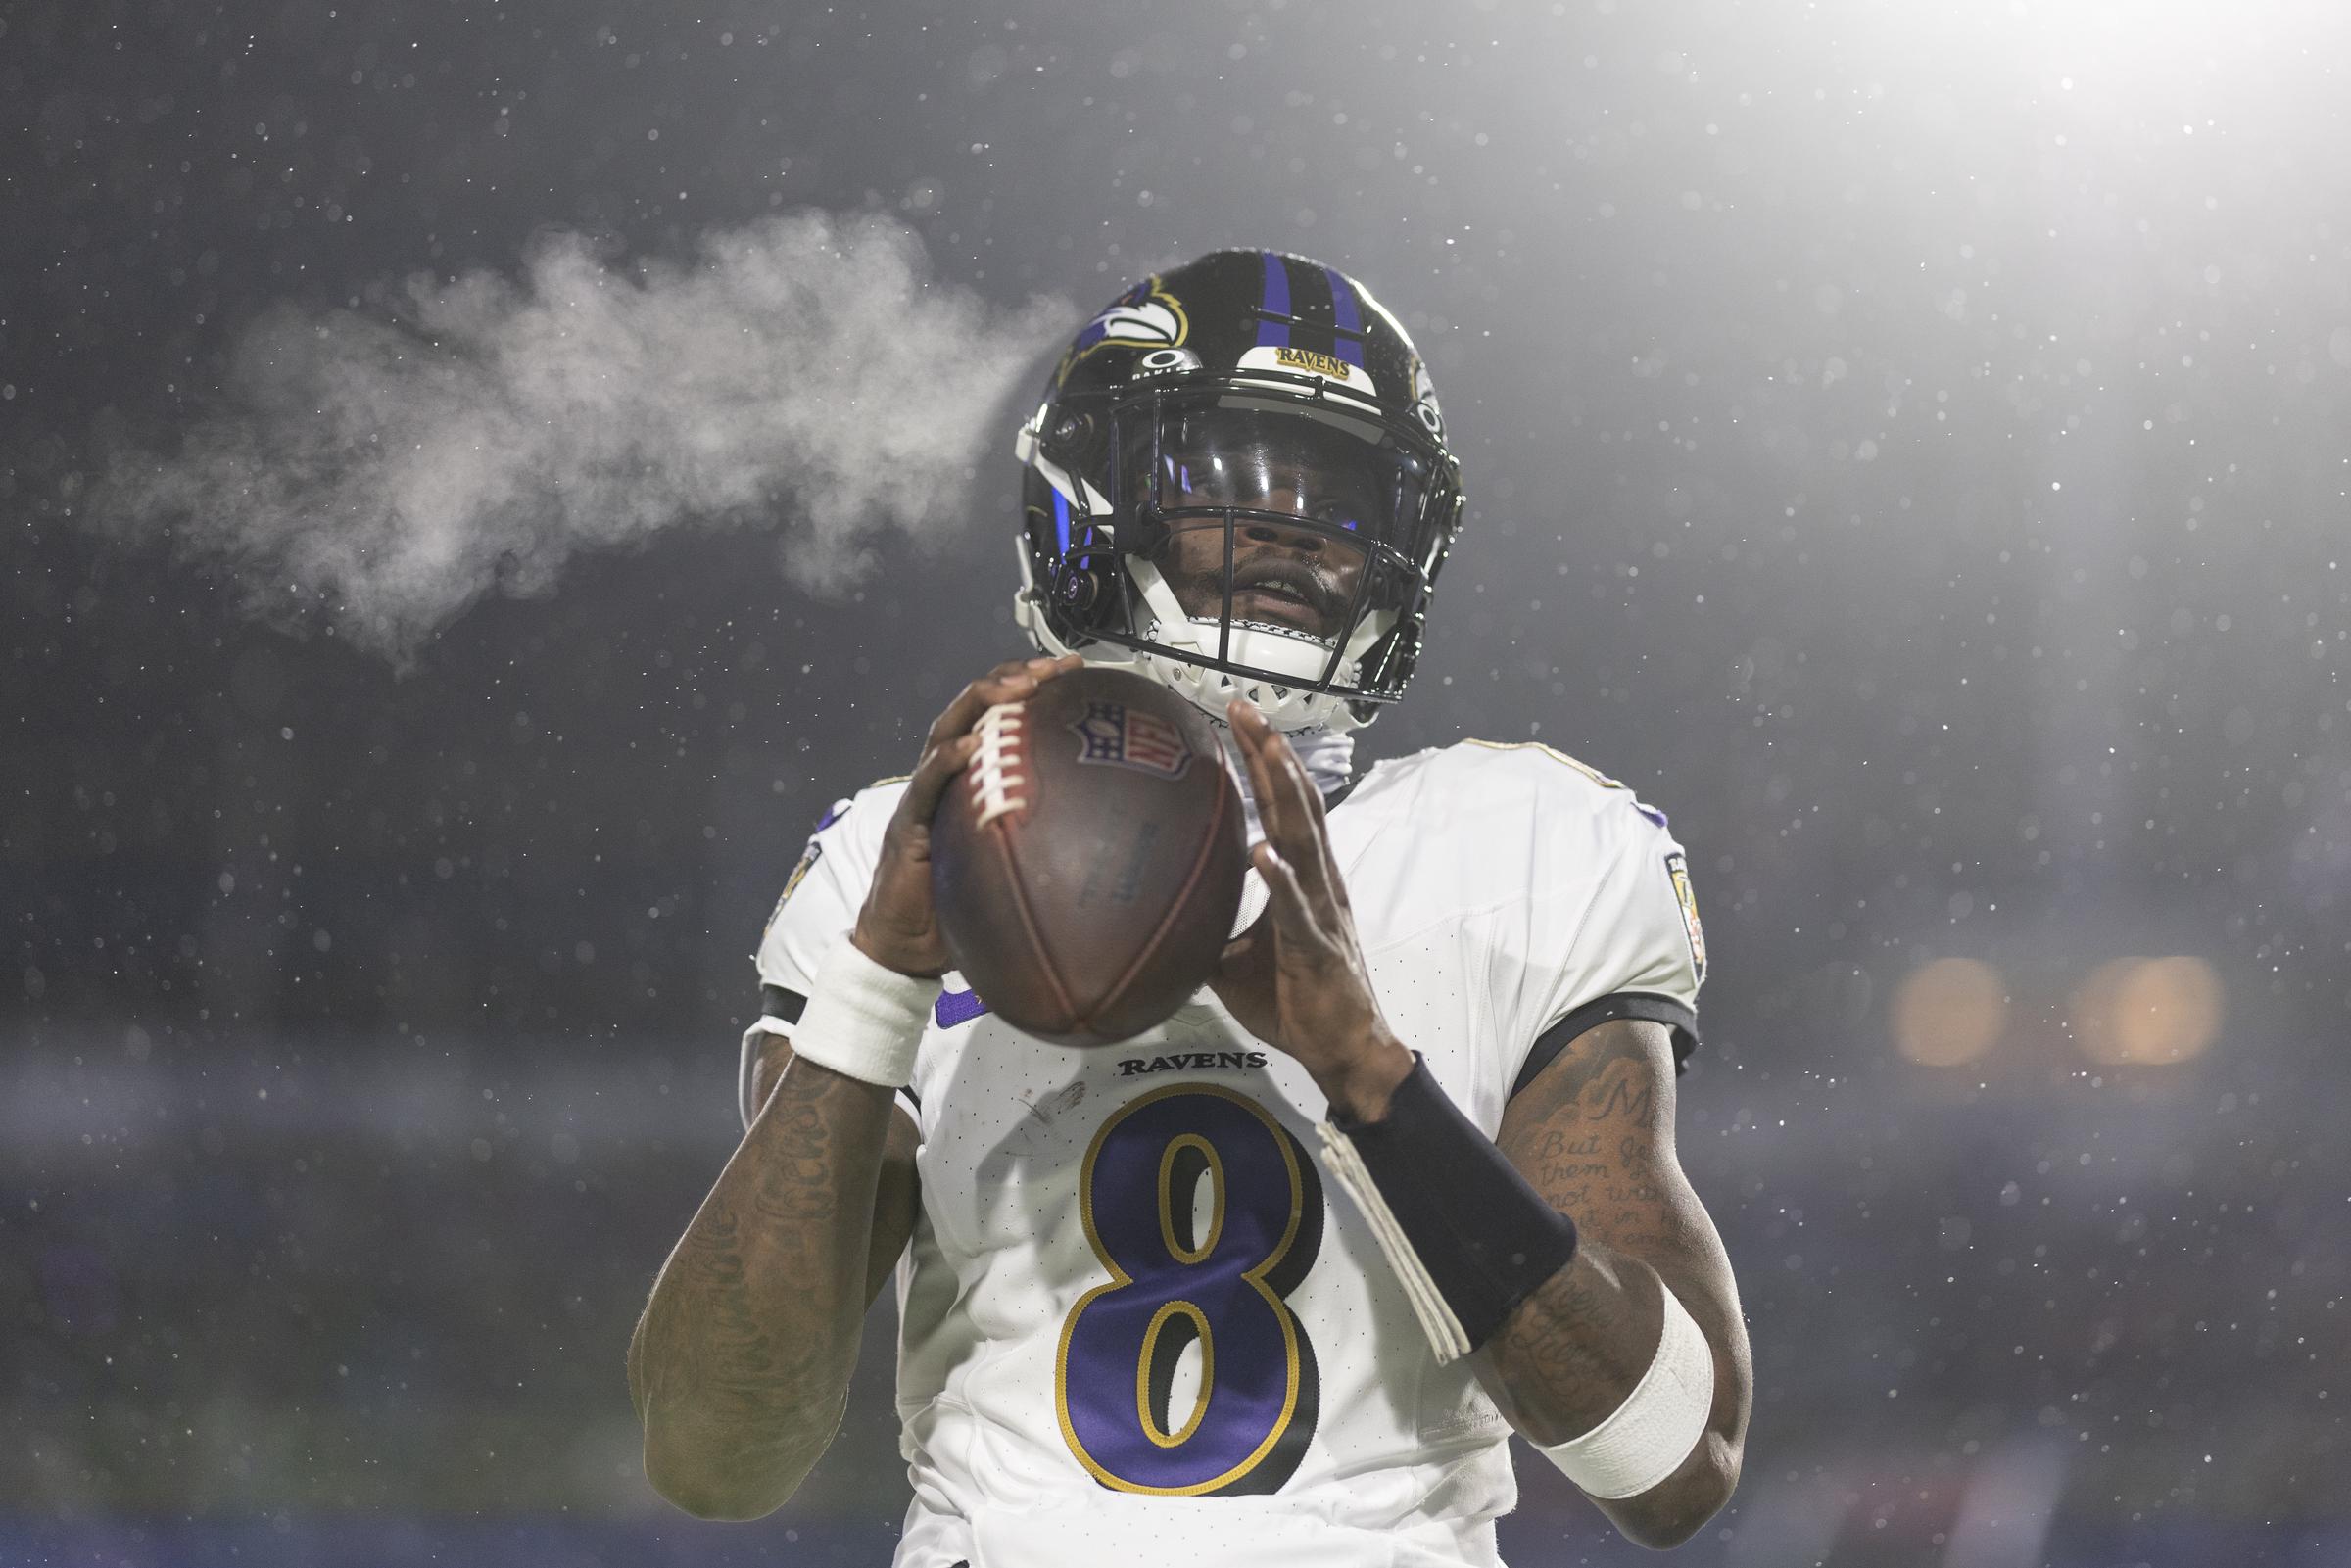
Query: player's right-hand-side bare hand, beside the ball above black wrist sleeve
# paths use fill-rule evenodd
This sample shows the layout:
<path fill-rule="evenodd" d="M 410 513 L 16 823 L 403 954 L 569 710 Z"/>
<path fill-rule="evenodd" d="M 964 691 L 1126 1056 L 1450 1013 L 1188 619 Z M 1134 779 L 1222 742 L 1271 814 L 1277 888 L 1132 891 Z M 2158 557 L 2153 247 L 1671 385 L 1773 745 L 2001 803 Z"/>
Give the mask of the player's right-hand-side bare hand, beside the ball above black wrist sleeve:
<path fill-rule="evenodd" d="M 1291 743 L 1244 701 L 1227 710 L 1248 764 L 1265 839 L 1265 914 L 1225 943 L 1211 987 L 1244 1030 L 1288 1051 L 1335 1112 L 1378 1121 L 1413 1053 L 1389 1032 L 1354 936 L 1347 884 L 1331 858 L 1321 795 Z"/>

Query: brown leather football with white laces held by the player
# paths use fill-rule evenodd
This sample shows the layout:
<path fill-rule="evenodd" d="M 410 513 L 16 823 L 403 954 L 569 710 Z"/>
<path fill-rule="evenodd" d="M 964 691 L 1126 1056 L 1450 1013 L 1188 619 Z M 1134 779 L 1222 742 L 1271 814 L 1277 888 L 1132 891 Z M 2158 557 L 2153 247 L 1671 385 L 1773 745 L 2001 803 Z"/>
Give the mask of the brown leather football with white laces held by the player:
<path fill-rule="evenodd" d="M 940 936 L 1016 1030 L 1105 1046 L 1206 985 L 1248 867 L 1215 729 L 1124 670 L 990 708 L 931 823 Z"/>

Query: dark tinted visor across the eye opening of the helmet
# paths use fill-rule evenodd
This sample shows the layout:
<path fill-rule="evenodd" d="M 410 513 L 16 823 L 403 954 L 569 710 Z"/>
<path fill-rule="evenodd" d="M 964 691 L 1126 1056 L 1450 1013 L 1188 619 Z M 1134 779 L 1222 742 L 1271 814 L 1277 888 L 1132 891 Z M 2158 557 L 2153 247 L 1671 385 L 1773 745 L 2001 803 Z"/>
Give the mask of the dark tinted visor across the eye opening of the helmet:
<path fill-rule="evenodd" d="M 1387 545 L 1411 559 L 1429 461 L 1333 409 L 1225 393 L 1164 400 L 1119 440 L 1121 508 L 1246 510 Z"/>

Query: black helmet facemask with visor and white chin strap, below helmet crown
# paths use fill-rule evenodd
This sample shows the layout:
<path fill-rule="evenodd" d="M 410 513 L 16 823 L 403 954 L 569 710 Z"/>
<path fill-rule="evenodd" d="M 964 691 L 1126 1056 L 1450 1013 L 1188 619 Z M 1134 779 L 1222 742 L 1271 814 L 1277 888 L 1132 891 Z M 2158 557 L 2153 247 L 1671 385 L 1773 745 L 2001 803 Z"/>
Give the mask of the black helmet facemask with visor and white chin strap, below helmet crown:
<path fill-rule="evenodd" d="M 1128 649 L 1211 717 L 1241 696 L 1284 731 L 1401 696 L 1460 508 L 1425 430 L 1253 369 L 1063 397 L 1020 456 L 1020 618 L 1041 646 Z"/>

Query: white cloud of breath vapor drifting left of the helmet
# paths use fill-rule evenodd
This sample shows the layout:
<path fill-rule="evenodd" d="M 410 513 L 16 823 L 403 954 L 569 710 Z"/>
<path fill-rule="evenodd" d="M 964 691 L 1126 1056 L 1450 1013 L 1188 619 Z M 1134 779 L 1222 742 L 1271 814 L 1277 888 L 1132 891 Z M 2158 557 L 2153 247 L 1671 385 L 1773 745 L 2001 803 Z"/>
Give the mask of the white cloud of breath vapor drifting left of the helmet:
<path fill-rule="evenodd" d="M 176 454 L 118 451 L 92 510 L 395 661 L 489 590 L 682 524 L 769 524 L 785 571 L 830 588 L 877 536 L 969 515 L 1013 378 L 1070 315 L 940 282 L 879 216 L 788 214 L 628 268 L 560 233 L 520 280 L 407 280 L 395 320 L 266 313 L 216 411 Z"/>

